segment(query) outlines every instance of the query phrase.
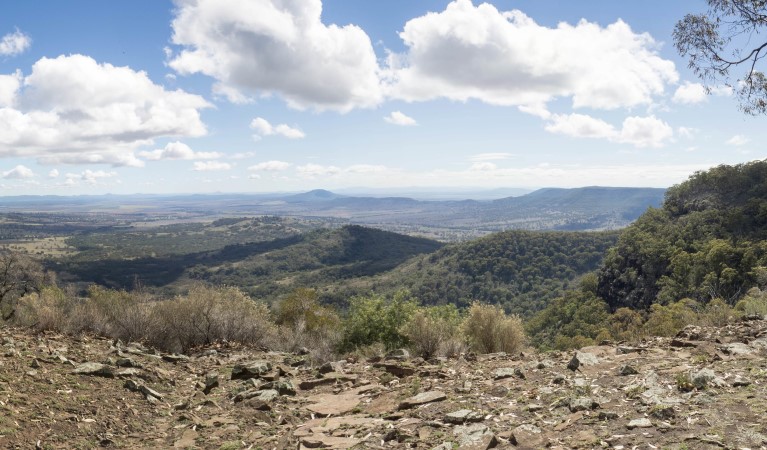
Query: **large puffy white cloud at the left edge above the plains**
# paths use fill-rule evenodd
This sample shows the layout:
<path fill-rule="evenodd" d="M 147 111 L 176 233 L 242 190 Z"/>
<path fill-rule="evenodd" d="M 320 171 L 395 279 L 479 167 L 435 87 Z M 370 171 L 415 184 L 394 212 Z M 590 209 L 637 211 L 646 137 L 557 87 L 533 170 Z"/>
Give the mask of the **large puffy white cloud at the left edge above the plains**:
<path fill-rule="evenodd" d="M 42 58 L 0 108 L 0 157 L 42 163 L 141 166 L 137 147 L 155 138 L 206 133 L 198 95 L 168 91 L 144 72 L 83 55 Z"/>

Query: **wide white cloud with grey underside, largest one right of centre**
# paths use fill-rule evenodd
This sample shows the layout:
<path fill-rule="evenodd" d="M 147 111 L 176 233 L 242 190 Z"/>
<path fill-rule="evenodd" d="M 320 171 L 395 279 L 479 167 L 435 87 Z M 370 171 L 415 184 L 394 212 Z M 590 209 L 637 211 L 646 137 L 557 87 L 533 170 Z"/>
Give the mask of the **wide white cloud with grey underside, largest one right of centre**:
<path fill-rule="evenodd" d="M 576 108 L 648 105 L 679 78 L 653 38 L 621 20 L 549 28 L 521 11 L 455 0 L 408 21 L 400 37 L 408 51 L 390 57 L 391 95 L 411 101 L 479 99 L 545 116 L 557 97 Z"/>

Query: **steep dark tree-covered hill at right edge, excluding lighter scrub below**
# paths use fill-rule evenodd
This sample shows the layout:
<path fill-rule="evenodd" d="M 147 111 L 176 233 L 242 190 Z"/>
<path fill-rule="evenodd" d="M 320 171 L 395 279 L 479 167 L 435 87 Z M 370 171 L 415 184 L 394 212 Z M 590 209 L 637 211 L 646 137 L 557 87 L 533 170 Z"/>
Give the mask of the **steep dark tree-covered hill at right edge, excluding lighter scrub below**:
<path fill-rule="evenodd" d="M 734 304 L 767 283 L 767 161 L 719 166 L 670 188 L 599 270 L 611 309 L 691 298 Z"/>

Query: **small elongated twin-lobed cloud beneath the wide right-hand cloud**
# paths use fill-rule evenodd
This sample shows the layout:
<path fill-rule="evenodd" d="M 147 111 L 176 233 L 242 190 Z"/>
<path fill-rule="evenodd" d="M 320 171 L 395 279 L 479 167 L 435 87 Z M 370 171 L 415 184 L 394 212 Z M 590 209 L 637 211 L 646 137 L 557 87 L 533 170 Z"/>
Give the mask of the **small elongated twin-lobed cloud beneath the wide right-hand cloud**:
<path fill-rule="evenodd" d="M 620 130 L 584 114 L 555 114 L 546 125 L 551 133 L 578 138 L 607 139 L 635 147 L 662 147 L 674 137 L 674 130 L 655 116 L 627 117 Z"/>

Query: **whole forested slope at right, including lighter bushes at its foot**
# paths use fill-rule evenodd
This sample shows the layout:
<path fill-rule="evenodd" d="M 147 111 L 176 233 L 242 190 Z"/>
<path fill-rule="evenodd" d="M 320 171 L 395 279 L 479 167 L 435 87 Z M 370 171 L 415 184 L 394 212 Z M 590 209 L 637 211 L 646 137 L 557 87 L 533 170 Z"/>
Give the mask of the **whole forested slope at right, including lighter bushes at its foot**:
<path fill-rule="evenodd" d="M 719 166 L 670 188 L 594 274 L 527 324 L 540 347 L 672 336 L 767 314 L 767 161 Z"/>

